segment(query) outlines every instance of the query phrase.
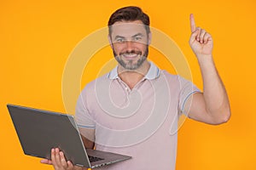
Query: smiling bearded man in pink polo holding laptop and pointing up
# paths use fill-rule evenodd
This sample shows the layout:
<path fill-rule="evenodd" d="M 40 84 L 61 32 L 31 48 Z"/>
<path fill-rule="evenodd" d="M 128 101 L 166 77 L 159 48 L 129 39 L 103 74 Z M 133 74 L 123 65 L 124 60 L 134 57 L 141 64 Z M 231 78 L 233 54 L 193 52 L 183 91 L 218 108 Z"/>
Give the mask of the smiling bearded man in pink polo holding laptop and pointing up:
<path fill-rule="evenodd" d="M 212 59 L 212 36 L 190 15 L 190 47 L 201 67 L 203 93 L 191 82 L 149 62 L 149 18 L 141 8 L 115 11 L 108 39 L 118 66 L 90 82 L 79 96 L 76 119 L 86 148 L 130 155 L 103 169 L 175 169 L 177 120 L 220 124 L 230 118 L 229 99 Z M 82 169 L 53 149 L 55 169 Z"/>

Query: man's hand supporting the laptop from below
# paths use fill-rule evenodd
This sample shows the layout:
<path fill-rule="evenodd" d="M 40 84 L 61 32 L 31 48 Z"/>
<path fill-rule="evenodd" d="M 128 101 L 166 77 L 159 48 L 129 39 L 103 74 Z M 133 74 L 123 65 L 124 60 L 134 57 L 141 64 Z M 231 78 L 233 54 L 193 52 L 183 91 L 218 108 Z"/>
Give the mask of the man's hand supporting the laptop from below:
<path fill-rule="evenodd" d="M 64 153 L 58 148 L 51 150 L 51 160 L 41 160 L 41 163 L 53 165 L 55 170 L 85 170 L 86 168 L 73 166 L 71 161 L 66 161 Z"/>

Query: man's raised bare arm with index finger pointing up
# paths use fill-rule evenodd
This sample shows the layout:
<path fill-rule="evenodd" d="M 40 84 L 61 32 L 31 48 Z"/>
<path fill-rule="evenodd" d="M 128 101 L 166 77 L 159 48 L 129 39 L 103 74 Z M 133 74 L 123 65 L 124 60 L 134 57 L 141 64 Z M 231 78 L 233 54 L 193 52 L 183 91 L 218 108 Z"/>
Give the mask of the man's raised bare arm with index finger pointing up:
<path fill-rule="evenodd" d="M 230 119 L 230 103 L 221 78 L 212 59 L 212 36 L 200 27 L 195 27 L 190 14 L 190 47 L 201 67 L 203 93 L 195 93 L 186 102 L 185 111 L 196 121 L 220 124 Z"/>

